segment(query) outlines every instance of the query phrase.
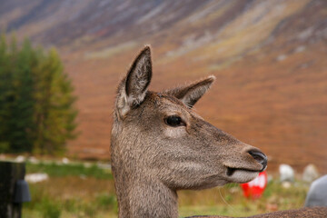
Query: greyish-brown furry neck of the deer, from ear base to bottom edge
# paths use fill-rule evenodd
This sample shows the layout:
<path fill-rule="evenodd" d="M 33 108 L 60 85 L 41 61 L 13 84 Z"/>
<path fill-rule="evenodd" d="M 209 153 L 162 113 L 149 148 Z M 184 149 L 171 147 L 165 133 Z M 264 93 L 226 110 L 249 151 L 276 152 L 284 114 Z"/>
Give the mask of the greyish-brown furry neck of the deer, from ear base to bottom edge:
<path fill-rule="evenodd" d="M 131 153 L 134 144 L 122 142 L 122 125 L 114 116 L 111 138 L 111 160 L 114 173 L 114 185 L 118 201 L 119 218 L 129 217 L 178 217 L 178 201 L 175 190 L 170 189 L 154 175 L 147 173 L 142 163 Z"/>

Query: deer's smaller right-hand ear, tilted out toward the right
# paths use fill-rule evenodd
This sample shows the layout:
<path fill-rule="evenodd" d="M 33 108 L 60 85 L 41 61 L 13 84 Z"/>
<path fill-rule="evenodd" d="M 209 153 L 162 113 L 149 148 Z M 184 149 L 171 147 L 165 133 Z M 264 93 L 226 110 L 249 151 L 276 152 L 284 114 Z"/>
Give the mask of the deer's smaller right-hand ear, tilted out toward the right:
<path fill-rule="evenodd" d="M 193 84 L 189 84 L 182 87 L 177 87 L 172 90 L 164 92 L 165 94 L 173 95 L 180 99 L 183 104 L 192 108 L 193 105 L 205 94 L 215 80 L 214 75 L 210 75 L 207 78 L 197 81 Z"/>

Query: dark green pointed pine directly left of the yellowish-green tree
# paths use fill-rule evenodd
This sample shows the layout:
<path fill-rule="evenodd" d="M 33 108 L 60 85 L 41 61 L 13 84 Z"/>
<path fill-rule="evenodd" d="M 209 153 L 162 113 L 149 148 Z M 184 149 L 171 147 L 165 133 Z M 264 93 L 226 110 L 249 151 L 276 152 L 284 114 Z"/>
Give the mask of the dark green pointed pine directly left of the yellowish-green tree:
<path fill-rule="evenodd" d="M 17 53 L 13 75 L 13 102 L 10 106 L 8 127 L 10 147 L 15 152 L 32 152 L 34 144 L 35 81 L 33 71 L 37 66 L 35 51 L 26 39 Z"/>

